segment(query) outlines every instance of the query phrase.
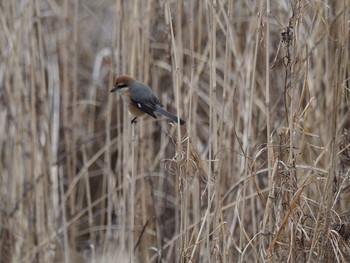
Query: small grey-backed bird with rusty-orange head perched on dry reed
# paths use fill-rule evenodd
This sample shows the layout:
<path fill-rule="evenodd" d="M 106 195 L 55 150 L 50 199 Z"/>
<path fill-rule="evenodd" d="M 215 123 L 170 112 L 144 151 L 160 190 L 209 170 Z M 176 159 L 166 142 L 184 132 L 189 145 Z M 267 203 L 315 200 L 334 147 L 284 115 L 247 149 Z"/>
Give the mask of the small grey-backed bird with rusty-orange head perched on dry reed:
<path fill-rule="evenodd" d="M 136 123 L 136 119 L 145 113 L 157 119 L 154 114 L 158 112 L 165 117 L 173 120 L 176 123 L 180 122 L 180 125 L 184 125 L 186 122 L 174 114 L 163 109 L 163 104 L 154 95 L 152 89 L 145 83 L 137 81 L 129 75 L 121 75 L 114 81 L 114 86 L 110 90 L 110 93 L 118 91 L 122 95 L 124 104 L 127 105 L 130 113 L 135 116 L 131 120 L 131 123 Z"/>

